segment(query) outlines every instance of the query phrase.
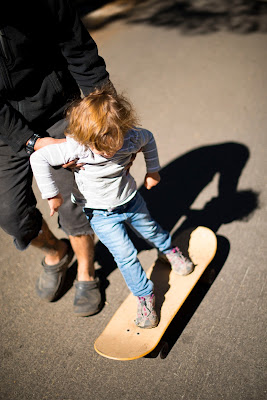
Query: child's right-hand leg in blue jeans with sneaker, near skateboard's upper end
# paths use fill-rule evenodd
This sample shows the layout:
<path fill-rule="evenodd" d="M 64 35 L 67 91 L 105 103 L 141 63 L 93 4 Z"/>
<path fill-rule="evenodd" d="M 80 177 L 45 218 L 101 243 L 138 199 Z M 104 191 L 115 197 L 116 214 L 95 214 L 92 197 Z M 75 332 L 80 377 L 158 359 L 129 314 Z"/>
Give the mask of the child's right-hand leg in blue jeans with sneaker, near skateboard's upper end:
<path fill-rule="evenodd" d="M 172 247 L 169 232 L 163 230 L 151 217 L 139 193 L 136 195 L 133 206 L 127 210 L 127 215 L 127 222 L 131 228 L 166 256 L 174 272 L 179 275 L 188 275 L 193 271 L 192 262 L 186 259 L 177 247 Z"/>

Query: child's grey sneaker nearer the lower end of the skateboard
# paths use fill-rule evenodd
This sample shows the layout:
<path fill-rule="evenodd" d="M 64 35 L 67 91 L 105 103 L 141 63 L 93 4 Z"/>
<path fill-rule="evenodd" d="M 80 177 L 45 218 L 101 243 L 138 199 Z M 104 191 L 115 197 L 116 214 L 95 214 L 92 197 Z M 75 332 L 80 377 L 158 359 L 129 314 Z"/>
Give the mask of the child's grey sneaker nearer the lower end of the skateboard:
<path fill-rule="evenodd" d="M 137 297 L 137 317 L 134 321 L 139 328 L 155 328 L 158 325 L 158 317 L 155 310 L 155 295 L 149 294 Z"/>

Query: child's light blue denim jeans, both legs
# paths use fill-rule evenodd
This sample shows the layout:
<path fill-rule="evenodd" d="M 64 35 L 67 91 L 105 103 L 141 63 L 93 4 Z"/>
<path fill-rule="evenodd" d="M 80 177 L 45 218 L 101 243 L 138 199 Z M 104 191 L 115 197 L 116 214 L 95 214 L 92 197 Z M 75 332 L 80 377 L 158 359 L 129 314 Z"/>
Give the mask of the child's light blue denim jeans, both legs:
<path fill-rule="evenodd" d="M 137 192 L 132 200 L 112 211 L 85 208 L 84 212 L 99 240 L 113 255 L 134 296 L 151 294 L 153 283 L 146 277 L 125 224 L 162 253 L 171 249 L 171 237 L 151 218 L 140 193 Z"/>

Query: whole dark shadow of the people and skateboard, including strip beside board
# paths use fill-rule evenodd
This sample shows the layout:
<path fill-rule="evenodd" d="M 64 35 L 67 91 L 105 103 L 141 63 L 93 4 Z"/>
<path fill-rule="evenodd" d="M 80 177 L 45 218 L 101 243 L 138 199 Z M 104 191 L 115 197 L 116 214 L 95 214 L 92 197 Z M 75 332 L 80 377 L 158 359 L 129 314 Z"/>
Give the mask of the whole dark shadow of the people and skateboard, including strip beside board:
<path fill-rule="evenodd" d="M 146 190 L 144 186 L 140 188 L 140 193 L 155 220 L 168 231 L 176 229 L 172 234 L 173 240 L 175 242 L 177 239 L 179 240 L 178 245 L 185 255 L 190 232 L 195 227 L 206 226 L 216 233 L 222 224 L 234 220 L 247 220 L 258 207 L 258 193 L 251 189 L 238 191 L 238 181 L 248 159 L 249 150 L 240 143 L 229 142 L 200 147 L 164 167 L 160 171 L 161 182 L 155 188 L 150 191 Z M 209 199 L 203 209 L 191 209 L 195 199 L 216 174 L 219 174 L 218 195 Z M 185 219 L 177 228 L 176 224 L 181 217 L 185 217 Z M 181 236 L 186 232 L 189 233 L 187 241 L 180 241 Z M 139 252 L 151 248 L 132 231 L 129 231 L 129 236 Z M 217 235 L 217 252 L 214 260 L 180 308 L 179 315 L 176 315 L 164 334 L 163 340 L 166 339 L 170 347 L 177 341 L 194 315 L 210 285 L 223 267 L 229 251 L 229 241 L 225 237 Z M 102 266 L 100 272 L 103 279 L 108 282 L 107 277 L 116 268 L 116 264 L 101 243 L 96 245 L 96 259 Z M 160 316 L 165 295 L 170 287 L 170 266 L 166 264 L 163 271 L 158 268 L 158 263 L 156 261 L 151 278 L 155 283 L 156 309 Z M 150 357 L 158 354 L 158 348 L 153 354 L 151 353 Z"/>

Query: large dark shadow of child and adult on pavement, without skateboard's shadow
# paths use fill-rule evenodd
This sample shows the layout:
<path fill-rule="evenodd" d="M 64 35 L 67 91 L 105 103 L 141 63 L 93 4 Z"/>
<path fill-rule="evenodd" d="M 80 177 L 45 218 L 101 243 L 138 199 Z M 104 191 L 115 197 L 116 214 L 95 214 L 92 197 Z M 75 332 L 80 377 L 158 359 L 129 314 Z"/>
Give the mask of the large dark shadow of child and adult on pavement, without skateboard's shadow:
<path fill-rule="evenodd" d="M 248 148 L 240 143 L 220 143 L 192 150 L 172 161 L 160 171 L 161 182 L 151 190 L 144 186 L 140 193 L 155 220 L 171 231 L 182 216 L 186 219 L 173 233 L 199 225 L 214 232 L 222 224 L 247 218 L 258 207 L 258 194 L 250 189 L 238 191 L 238 180 L 249 158 Z M 198 195 L 219 173 L 218 197 L 212 198 L 202 210 L 192 210 Z M 151 247 L 129 230 L 137 250 Z M 117 268 L 113 257 L 100 242 L 96 245 L 96 260 L 106 279 Z M 220 249 L 218 249 L 219 251 Z"/>

